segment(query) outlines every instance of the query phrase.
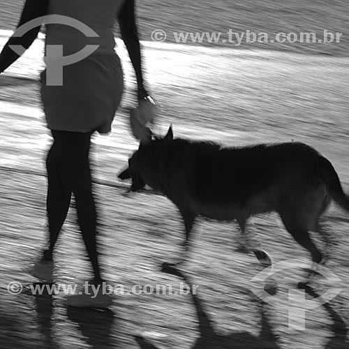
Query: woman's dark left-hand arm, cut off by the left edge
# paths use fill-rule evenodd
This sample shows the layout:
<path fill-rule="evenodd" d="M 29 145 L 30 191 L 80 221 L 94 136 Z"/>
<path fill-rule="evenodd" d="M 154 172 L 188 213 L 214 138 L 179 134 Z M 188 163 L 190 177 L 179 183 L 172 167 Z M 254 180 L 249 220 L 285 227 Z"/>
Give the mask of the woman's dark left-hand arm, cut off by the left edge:
<path fill-rule="evenodd" d="M 17 28 L 23 24 L 35 20 L 38 17 L 42 17 L 47 14 L 48 0 L 27 0 L 22 10 L 22 16 Z M 21 37 L 11 37 L 0 54 L 0 73 L 6 70 L 11 64 L 13 64 L 20 57 L 12 49 L 10 45 L 22 45 L 26 49 L 34 42 L 38 36 L 40 27 L 31 29 Z"/>

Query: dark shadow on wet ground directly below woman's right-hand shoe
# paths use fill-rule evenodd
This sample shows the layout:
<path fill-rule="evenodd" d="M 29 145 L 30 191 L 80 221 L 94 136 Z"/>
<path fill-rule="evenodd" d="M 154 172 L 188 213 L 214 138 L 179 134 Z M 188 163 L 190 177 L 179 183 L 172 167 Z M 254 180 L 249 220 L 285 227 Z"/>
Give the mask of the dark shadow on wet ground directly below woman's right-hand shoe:
<path fill-rule="evenodd" d="M 114 313 L 110 309 L 77 309 L 68 307 L 68 319 L 79 325 L 85 341 L 91 348 L 115 348 L 112 343 Z"/>

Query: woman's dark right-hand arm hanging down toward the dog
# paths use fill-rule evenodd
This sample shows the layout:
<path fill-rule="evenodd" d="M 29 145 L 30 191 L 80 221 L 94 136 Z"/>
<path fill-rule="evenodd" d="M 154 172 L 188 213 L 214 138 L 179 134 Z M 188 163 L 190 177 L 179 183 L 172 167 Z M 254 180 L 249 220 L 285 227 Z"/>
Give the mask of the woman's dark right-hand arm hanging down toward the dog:
<path fill-rule="evenodd" d="M 144 89 L 142 75 L 142 59 L 140 55 L 140 40 L 138 38 L 137 26 L 135 24 L 135 0 L 125 0 L 124 7 L 119 13 L 119 26 L 122 40 L 126 45 L 128 55 L 130 56 L 138 84 L 138 98 L 148 96 Z"/>

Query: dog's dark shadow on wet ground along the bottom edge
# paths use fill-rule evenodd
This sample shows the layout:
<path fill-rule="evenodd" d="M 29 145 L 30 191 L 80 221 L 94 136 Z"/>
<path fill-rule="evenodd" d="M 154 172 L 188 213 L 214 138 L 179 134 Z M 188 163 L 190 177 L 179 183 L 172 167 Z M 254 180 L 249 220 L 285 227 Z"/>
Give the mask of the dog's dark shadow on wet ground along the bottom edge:
<path fill-rule="evenodd" d="M 191 284 L 188 277 L 174 267 L 166 267 L 166 269 L 163 269 L 163 271 L 167 272 L 168 274 L 178 276 L 179 278 L 183 279 L 187 285 Z M 223 336 L 214 331 L 212 322 L 207 313 L 205 313 L 198 296 L 194 295 L 192 290 L 190 290 L 190 294 L 193 299 L 196 314 L 198 316 L 200 333 L 200 336 L 192 349 L 280 349 L 277 344 L 277 337 L 272 332 L 272 328 L 269 325 L 262 303 L 260 303 L 262 329 L 259 336 L 253 336 L 253 334 L 249 332 L 233 332 Z M 135 340 L 142 349 L 157 349 L 156 346 L 153 346 L 151 343 L 147 342 L 147 340 L 142 338 L 142 336 L 135 336 Z"/>

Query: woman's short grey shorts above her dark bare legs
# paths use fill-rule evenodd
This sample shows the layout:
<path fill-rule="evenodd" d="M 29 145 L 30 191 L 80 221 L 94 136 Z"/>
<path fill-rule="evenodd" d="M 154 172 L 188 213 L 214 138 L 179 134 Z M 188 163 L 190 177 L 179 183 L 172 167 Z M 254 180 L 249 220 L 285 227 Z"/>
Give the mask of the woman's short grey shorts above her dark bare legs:
<path fill-rule="evenodd" d="M 117 54 L 91 55 L 63 67 L 63 86 L 47 86 L 41 98 L 47 127 L 57 131 L 109 133 L 120 104 L 124 78 Z"/>

